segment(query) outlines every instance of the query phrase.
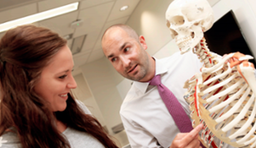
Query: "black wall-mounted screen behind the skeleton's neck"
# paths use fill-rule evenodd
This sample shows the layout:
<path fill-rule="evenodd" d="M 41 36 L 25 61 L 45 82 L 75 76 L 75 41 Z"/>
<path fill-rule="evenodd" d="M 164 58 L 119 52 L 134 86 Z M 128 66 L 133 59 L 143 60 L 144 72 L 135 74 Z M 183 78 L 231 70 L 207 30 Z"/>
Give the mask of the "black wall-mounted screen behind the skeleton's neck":
<path fill-rule="evenodd" d="M 204 33 L 204 37 L 208 48 L 212 52 L 223 55 L 239 51 L 243 54 L 253 56 L 232 10 L 217 20 L 214 25 Z M 249 61 L 256 66 L 255 57 L 253 60 Z"/>

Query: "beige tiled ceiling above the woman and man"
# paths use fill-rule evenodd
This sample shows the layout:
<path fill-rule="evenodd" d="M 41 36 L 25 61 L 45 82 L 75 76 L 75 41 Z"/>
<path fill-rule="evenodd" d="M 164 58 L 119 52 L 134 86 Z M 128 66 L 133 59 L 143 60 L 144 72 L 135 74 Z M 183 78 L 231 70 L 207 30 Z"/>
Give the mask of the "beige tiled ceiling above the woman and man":
<path fill-rule="evenodd" d="M 0 0 L 0 23 L 32 15 L 63 5 L 79 2 L 79 9 L 67 14 L 36 22 L 59 33 L 62 37 L 73 34 L 73 38 L 87 35 L 81 52 L 74 54 L 75 69 L 102 58 L 101 36 L 106 28 L 123 23 L 138 5 L 140 0 Z M 119 9 L 128 5 L 125 11 Z M 73 21 L 81 19 L 83 24 L 71 28 Z M 0 38 L 4 33 L 0 33 Z M 68 40 L 71 47 L 72 39 Z"/>

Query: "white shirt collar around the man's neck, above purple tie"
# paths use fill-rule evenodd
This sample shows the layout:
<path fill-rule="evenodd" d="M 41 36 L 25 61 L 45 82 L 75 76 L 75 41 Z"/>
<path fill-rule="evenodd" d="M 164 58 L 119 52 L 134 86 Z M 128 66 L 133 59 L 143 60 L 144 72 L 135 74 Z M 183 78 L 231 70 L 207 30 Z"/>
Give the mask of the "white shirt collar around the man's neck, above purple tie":
<path fill-rule="evenodd" d="M 168 71 L 168 69 L 164 66 L 164 63 L 161 63 L 161 61 L 159 61 L 157 58 L 153 57 L 155 59 L 156 62 L 156 75 L 158 74 L 163 74 L 166 73 Z M 134 81 L 134 85 L 138 88 L 138 90 L 140 90 L 143 94 L 145 94 L 146 89 L 148 84 L 150 84 L 149 82 L 138 82 L 138 81 Z"/>

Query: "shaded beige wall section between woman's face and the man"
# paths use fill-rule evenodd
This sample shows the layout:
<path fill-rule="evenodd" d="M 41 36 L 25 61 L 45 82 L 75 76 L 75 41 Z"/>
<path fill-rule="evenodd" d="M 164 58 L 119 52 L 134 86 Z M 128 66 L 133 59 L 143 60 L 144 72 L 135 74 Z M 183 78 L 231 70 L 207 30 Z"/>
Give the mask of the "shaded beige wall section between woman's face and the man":
<path fill-rule="evenodd" d="M 116 85 L 123 80 L 104 57 L 80 67 L 91 88 L 110 134 L 111 128 L 122 123 L 119 115 L 122 99 Z"/>

